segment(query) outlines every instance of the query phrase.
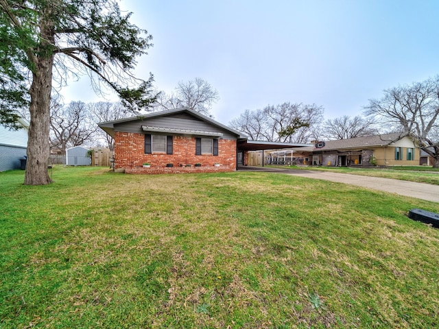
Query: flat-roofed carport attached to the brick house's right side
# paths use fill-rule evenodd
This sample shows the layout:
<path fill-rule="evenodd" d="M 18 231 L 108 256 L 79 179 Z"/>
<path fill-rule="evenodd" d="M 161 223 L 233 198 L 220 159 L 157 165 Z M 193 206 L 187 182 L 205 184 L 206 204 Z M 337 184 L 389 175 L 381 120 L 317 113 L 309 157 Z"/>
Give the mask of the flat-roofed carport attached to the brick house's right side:
<path fill-rule="evenodd" d="M 282 142 L 268 142 L 268 141 L 248 141 L 241 139 L 237 141 L 237 169 L 240 166 L 245 166 L 248 151 L 262 151 L 262 167 L 264 166 L 264 151 L 273 149 L 300 149 L 302 147 L 314 147 L 313 144 L 300 143 L 282 143 Z"/>

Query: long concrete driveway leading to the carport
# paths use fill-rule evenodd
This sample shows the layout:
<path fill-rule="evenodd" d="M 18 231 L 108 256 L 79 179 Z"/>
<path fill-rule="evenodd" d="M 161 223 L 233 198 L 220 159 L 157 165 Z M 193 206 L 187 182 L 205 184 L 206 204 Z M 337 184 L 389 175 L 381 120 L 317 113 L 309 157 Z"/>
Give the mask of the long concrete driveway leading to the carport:
<path fill-rule="evenodd" d="M 389 178 L 378 178 L 360 175 L 351 175 L 348 173 L 333 173 L 329 171 L 313 170 L 295 170 L 283 168 L 267 167 L 239 167 L 239 170 L 245 171 L 265 171 L 270 173 L 284 173 L 286 175 L 295 175 L 316 180 L 329 180 L 331 182 L 340 182 L 351 184 L 373 190 L 385 191 L 405 195 L 406 197 L 416 197 L 432 202 L 439 203 L 439 186 L 425 183 L 407 182 L 405 180 L 391 180 Z"/>

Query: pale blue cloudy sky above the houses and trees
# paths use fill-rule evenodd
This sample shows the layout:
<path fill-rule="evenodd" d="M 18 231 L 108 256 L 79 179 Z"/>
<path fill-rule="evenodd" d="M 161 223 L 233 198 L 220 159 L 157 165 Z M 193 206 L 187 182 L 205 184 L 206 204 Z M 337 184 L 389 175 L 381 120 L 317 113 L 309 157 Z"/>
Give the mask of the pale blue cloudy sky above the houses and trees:
<path fill-rule="evenodd" d="M 217 89 L 212 114 L 225 124 L 285 101 L 316 103 L 325 119 L 355 116 L 383 89 L 439 73 L 437 0 L 122 0 L 121 8 L 154 37 L 137 77 L 152 72 L 167 92 L 201 77 Z M 99 100 L 85 78 L 63 94 Z"/>

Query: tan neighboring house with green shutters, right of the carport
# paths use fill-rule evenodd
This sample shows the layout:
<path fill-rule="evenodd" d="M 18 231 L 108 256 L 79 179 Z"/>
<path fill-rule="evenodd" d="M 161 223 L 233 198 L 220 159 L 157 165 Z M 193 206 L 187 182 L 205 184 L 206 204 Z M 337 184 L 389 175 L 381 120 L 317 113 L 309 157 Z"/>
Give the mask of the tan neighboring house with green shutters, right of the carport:
<path fill-rule="evenodd" d="M 316 143 L 314 165 L 324 166 L 409 166 L 418 165 L 420 151 L 407 134 L 382 134 Z"/>

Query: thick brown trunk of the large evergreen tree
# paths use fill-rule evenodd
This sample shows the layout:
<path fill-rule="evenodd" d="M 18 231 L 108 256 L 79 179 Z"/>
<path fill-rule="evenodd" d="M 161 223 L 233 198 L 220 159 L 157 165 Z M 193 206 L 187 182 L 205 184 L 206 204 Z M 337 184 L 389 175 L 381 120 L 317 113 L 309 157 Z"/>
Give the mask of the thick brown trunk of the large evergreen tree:
<path fill-rule="evenodd" d="M 50 8 L 47 9 L 48 12 Z M 30 94 L 30 123 L 27 133 L 27 163 L 25 185 L 43 185 L 51 182 L 47 167 L 49 164 L 50 142 L 50 95 L 52 89 L 52 70 L 54 53 L 47 51 L 54 45 L 54 32 L 50 21 L 41 19 L 42 42 L 38 55 L 33 56 L 35 68 L 32 70 Z"/>

